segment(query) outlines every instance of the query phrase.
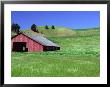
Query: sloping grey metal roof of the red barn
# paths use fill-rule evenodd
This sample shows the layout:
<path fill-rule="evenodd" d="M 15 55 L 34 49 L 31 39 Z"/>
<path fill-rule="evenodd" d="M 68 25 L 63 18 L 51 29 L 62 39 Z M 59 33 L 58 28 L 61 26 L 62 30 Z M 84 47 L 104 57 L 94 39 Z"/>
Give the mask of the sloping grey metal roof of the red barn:
<path fill-rule="evenodd" d="M 52 41 L 48 40 L 47 38 L 43 37 L 42 35 L 29 35 L 26 34 L 26 36 L 30 37 L 31 39 L 35 40 L 36 42 L 44 45 L 44 46 L 56 46 L 56 47 L 60 47 L 59 45 L 53 43 Z"/>

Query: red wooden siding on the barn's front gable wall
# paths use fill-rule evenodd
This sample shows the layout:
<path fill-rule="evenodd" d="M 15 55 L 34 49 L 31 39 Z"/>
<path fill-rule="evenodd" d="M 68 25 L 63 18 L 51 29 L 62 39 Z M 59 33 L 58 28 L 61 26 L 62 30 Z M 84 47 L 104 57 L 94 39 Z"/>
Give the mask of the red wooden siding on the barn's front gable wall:
<path fill-rule="evenodd" d="M 11 47 L 13 47 L 13 42 L 26 42 L 26 48 L 28 48 L 29 52 L 33 51 L 43 51 L 43 46 L 32 39 L 26 37 L 23 34 L 20 34 L 12 39 Z"/>

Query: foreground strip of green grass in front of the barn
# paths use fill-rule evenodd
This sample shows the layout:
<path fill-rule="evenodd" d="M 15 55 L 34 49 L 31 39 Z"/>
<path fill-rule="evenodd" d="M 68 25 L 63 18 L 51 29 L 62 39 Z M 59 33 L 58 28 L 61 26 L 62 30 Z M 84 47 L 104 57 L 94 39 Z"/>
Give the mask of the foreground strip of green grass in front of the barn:
<path fill-rule="evenodd" d="M 99 76 L 99 58 L 45 53 L 12 53 L 12 76 Z"/>

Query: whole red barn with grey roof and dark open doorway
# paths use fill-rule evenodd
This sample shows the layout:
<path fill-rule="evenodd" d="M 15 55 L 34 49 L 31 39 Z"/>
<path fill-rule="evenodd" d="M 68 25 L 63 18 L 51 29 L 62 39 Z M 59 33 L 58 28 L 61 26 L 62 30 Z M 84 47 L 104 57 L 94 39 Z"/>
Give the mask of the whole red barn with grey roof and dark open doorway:
<path fill-rule="evenodd" d="M 60 47 L 41 35 L 20 33 L 11 38 L 11 49 L 16 52 L 36 52 L 60 50 Z"/>

